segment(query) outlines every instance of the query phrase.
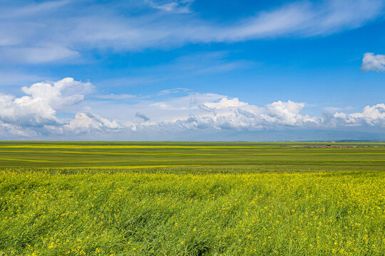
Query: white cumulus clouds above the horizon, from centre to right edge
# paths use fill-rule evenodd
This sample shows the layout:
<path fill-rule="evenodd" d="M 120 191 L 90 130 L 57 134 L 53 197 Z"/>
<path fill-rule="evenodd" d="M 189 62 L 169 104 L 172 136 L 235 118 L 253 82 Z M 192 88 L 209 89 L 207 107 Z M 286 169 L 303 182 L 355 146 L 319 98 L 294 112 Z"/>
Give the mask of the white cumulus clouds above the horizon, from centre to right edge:
<path fill-rule="evenodd" d="M 195 97 L 202 96 L 195 95 Z M 277 101 L 259 107 L 242 102 L 237 98 L 216 96 L 216 99 L 212 98 L 207 102 L 195 100 L 193 105 L 179 100 L 155 103 L 151 106 L 158 108 L 161 112 L 168 112 L 168 118 L 156 122 L 135 124 L 135 130 L 234 129 L 254 131 L 290 127 L 328 129 L 364 125 L 382 127 L 385 122 L 384 104 L 366 106 L 361 113 L 335 112 L 334 114 L 325 113 L 320 117 L 311 117 L 308 114 L 300 113 L 305 107 L 303 102 Z M 180 117 L 180 112 L 175 113 L 176 102 L 178 102 L 178 107 L 183 109 L 184 117 Z"/>

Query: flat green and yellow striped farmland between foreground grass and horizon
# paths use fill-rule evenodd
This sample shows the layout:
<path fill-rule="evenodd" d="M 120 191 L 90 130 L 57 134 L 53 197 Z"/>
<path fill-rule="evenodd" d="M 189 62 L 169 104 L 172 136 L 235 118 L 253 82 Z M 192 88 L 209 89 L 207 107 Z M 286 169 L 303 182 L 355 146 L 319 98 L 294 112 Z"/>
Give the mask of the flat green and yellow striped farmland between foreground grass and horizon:
<path fill-rule="evenodd" d="M 212 166 L 220 170 L 242 166 L 272 169 L 382 170 L 384 144 L 354 144 L 349 148 L 309 148 L 344 143 L 252 142 L 0 142 L 0 167 L 128 169 L 134 166 Z M 297 146 L 297 147 L 292 147 Z M 369 146 L 369 147 L 361 147 Z M 119 167 L 120 166 L 120 167 Z M 286 168 L 286 167 L 284 167 Z"/>

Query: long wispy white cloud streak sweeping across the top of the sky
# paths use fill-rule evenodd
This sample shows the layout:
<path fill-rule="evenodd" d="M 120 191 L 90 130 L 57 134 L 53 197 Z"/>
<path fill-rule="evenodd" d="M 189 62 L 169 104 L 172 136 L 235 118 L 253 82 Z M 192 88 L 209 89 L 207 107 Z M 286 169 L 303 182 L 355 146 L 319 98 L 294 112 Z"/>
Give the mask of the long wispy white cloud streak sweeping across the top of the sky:
<path fill-rule="evenodd" d="M 384 14 L 381 0 L 299 1 L 229 23 L 216 23 L 186 14 L 192 1 L 148 1 L 160 11 L 139 15 L 121 15 L 114 4 L 82 3 L 47 1 L 16 10 L 4 6 L 3 13 L 13 11 L 19 18 L 0 18 L 1 55 L 8 59 L 14 56 L 20 63 L 43 63 L 76 57 L 91 49 L 127 52 L 189 43 L 326 36 L 364 26 Z M 63 12 L 64 7 L 71 11 Z M 79 13 L 78 8 L 84 11 Z"/>

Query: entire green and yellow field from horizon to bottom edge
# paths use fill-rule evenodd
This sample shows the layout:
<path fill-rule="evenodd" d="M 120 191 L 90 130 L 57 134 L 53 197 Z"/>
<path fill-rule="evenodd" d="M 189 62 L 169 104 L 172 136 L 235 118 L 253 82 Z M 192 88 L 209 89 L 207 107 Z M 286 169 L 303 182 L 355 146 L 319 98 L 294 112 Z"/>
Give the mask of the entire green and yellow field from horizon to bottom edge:
<path fill-rule="evenodd" d="M 0 255 L 384 255 L 385 144 L 0 142 Z"/>

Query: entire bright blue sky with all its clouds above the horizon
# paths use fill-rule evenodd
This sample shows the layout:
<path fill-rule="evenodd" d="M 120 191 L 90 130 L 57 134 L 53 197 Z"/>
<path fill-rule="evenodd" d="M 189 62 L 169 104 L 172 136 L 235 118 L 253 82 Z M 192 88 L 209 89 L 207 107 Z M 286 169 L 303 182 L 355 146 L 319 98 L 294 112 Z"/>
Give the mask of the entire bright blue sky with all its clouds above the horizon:
<path fill-rule="evenodd" d="M 385 139 L 385 1 L 0 5 L 1 139 Z"/>

